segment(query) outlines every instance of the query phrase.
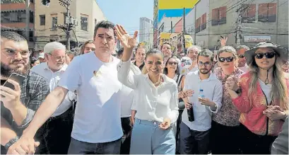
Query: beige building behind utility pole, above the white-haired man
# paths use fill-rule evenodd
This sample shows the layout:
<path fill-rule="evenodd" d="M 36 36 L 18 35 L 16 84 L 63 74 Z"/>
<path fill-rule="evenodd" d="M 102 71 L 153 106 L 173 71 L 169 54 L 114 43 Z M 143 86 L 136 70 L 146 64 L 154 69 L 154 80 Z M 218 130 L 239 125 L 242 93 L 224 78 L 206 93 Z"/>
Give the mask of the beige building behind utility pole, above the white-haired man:
<path fill-rule="evenodd" d="M 95 0 L 73 0 L 70 14 L 75 19 L 71 30 L 71 48 L 93 40 L 94 27 L 106 18 Z M 47 42 L 59 41 L 66 45 L 66 33 L 56 25 L 66 25 L 66 8 L 59 1 L 50 1 L 49 7 L 35 1 L 35 50 L 41 51 Z"/>

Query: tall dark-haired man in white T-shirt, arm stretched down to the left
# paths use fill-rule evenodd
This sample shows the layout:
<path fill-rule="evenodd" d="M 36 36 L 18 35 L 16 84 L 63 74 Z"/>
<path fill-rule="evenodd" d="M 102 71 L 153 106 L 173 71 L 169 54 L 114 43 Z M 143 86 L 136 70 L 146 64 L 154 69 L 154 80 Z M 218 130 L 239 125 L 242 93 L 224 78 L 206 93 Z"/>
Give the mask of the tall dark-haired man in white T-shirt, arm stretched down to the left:
<path fill-rule="evenodd" d="M 57 110 L 68 91 L 76 91 L 68 154 L 119 154 L 123 135 L 119 102 L 122 84 L 117 79 L 119 59 L 112 56 L 115 43 L 113 23 L 101 21 L 95 25 L 95 51 L 73 59 L 13 148 L 33 154 L 37 129 Z"/>

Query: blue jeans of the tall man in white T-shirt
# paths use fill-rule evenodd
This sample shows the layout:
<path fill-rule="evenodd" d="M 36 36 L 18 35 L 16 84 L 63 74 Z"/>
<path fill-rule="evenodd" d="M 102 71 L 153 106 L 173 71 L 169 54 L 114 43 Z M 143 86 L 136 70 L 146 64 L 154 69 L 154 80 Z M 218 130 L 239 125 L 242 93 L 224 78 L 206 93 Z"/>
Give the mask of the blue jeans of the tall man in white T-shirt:
<path fill-rule="evenodd" d="M 69 154 L 119 154 L 122 138 L 113 142 L 88 143 L 71 138 Z"/>

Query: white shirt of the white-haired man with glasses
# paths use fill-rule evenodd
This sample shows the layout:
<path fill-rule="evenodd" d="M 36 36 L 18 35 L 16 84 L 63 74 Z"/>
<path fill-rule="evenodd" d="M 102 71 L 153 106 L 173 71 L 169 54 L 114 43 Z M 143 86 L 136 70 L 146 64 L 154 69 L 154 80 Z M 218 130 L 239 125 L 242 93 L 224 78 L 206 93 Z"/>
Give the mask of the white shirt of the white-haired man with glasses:
<path fill-rule="evenodd" d="M 67 68 L 67 64 L 64 64 L 64 66 L 61 69 L 59 69 L 59 71 L 53 72 L 51 69 L 49 69 L 47 62 L 43 62 L 33 67 L 31 71 L 34 71 L 35 73 L 43 76 L 49 84 L 50 91 L 53 91 L 53 89 L 57 87 L 57 84 L 61 78 L 61 75 L 64 74 L 64 71 L 66 70 L 66 68 Z M 59 107 L 54 112 L 52 117 L 61 115 L 62 113 L 66 112 L 66 110 L 71 108 L 71 105 L 72 105 L 71 100 L 75 98 L 76 98 L 75 94 L 69 91 L 69 93 L 67 93 L 66 97 L 64 98 L 64 101 L 61 103 L 61 105 L 59 105 Z"/>

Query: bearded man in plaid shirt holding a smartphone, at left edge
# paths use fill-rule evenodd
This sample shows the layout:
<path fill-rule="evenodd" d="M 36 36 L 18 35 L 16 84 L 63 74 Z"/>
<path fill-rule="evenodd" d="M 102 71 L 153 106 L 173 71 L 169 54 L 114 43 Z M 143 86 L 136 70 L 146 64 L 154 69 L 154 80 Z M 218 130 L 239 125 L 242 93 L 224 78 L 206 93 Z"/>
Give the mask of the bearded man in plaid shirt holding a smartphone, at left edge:
<path fill-rule="evenodd" d="M 23 36 L 11 31 L 1 33 L 1 154 L 6 154 L 9 147 L 18 141 L 49 93 L 47 81 L 33 71 L 29 72 L 29 56 L 28 42 Z M 18 84 L 8 79 L 12 73 L 25 76 L 24 81 Z M 41 140 L 41 132 L 35 138 Z M 40 146 L 40 150 L 42 148 Z"/>

